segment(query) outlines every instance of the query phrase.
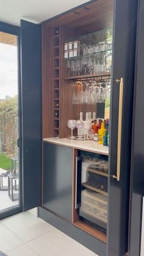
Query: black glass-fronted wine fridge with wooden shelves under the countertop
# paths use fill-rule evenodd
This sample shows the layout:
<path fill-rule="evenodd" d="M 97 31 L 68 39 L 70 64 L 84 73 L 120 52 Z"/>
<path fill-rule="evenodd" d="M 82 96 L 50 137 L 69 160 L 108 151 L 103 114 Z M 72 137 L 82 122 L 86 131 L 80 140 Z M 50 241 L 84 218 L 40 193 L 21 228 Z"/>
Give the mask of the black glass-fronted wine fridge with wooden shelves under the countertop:
<path fill-rule="evenodd" d="M 79 220 L 107 233 L 108 156 L 79 151 L 75 208 Z"/>

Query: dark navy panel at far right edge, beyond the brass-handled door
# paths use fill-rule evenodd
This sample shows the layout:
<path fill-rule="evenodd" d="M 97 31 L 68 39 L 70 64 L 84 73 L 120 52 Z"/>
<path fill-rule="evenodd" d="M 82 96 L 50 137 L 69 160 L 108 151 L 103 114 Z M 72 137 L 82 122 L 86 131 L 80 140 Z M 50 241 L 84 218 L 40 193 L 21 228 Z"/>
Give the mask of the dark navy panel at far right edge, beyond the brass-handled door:
<path fill-rule="evenodd" d="M 134 117 L 132 129 L 131 207 L 129 255 L 140 254 L 144 195 L 144 1 L 139 1 L 135 59 Z"/>

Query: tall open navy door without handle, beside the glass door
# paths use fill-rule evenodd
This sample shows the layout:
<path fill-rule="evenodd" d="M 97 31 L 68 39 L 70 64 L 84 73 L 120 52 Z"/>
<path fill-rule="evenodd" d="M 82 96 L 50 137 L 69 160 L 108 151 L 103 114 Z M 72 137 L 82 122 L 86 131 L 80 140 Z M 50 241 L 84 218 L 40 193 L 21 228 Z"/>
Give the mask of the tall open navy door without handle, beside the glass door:
<path fill-rule="evenodd" d="M 23 210 L 41 205 L 41 26 L 21 20 Z"/>

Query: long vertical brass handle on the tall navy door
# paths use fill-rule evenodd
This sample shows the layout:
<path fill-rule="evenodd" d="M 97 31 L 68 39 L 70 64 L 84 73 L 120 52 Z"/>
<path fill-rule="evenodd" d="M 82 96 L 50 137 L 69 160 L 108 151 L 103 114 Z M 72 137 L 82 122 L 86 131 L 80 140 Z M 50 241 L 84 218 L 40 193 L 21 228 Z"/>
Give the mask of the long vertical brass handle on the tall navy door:
<path fill-rule="evenodd" d="M 120 181 L 120 165 L 121 165 L 121 128 L 122 128 L 122 112 L 123 112 L 123 78 L 116 79 L 117 83 L 120 82 L 119 94 L 119 108 L 118 108 L 118 145 L 117 145 L 117 176 L 112 175 Z"/>

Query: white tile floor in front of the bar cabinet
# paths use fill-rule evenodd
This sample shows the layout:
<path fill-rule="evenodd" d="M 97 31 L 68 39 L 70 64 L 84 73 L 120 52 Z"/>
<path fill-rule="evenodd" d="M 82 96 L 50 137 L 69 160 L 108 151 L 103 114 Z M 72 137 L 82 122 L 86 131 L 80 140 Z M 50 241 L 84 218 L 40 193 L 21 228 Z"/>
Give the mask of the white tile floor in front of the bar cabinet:
<path fill-rule="evenodd" d="M 8 256 L 96 256 L 29 212 L 0 221 L 0 251 Z"/>

